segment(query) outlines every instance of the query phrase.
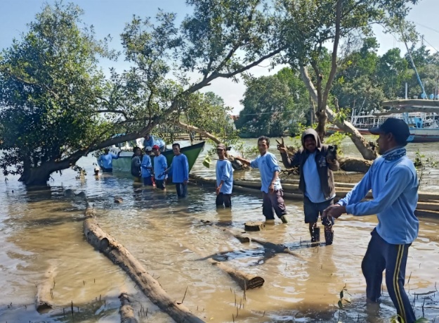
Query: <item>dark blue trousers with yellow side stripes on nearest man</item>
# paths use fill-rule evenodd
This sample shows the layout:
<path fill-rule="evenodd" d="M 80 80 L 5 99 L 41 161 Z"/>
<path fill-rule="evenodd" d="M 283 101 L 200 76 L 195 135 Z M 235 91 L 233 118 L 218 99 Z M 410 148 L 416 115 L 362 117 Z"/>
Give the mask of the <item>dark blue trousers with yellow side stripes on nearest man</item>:
<path fill-rule="evenodd" d="M 376 302 L 381 297 L 383 271 L 386 270 L 386 286 L 398 315 L 405 323 L 416 321 L 414 310 L 404 290 L 405 265 L 407 264 L 408 244 L 391 244 L 379 236 L 376 229 L 367 246 L 361 269 L 366 279 L 366 296 Z"/>

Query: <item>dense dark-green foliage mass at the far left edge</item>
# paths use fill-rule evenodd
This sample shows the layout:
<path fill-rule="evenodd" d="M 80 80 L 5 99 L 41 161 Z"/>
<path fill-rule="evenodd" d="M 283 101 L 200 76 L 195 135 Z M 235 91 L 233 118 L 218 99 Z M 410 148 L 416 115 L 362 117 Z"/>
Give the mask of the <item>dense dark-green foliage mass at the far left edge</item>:
<path fill-rule="evenodd" d="M 46 6 L 29 32 L 1 54 L 0 167 L 5 175 L 22 174 L 27 182 L 41 164 L 51 172 L 67 168 L 105 132 L 97 114 L 106 89 L 97 56 L 107 52 L 93 30 L 77 25 L 81 13 L 74 5 Z"/>

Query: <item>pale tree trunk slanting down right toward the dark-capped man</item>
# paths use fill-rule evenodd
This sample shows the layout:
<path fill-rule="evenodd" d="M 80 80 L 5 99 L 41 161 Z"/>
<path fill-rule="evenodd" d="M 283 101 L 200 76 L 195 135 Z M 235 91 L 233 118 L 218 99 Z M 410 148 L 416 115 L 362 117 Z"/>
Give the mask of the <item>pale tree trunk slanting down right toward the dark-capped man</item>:
<path fill-rule="evenodd" d="M 301 66 L 300 71 L 302 80 L 305 83 L 311 95 L 311 98 L 313 98 L 313 100 L 317 102 L 317 91 L 315 90 L 313 82 L 311 82 L 310 80 L 307 68 L 305 66 Z M 363 158 L 367 160 L 374 160 L 376 158 L 376 151 L 373 149 L 373 147 L 370 147 L 366 139 L 362 137 L 360 132 L 358 132 L 358 130 L 350 122 L 347 122 L 346 120 L 341 122 L 340 120 L 338 120 L 336 118 L 336 113 L 334 113 L 334 111 L 329 108 L 329 106 L 326 106 L 326 113 L 328 115 L 329 121 L 334 123 L 334 125 L 342 129 L 344 132 L 350 134 L 350 139 L 353 141 L 358 151 L 360 151 Z"/>

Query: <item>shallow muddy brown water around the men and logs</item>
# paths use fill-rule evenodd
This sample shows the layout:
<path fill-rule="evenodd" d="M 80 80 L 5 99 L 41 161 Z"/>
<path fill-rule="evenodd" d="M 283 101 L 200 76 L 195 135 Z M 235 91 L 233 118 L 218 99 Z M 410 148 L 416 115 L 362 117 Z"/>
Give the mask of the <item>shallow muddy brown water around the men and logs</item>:
<path fill-rule="evenodd" d="M 409 155 L 414 151 L 409 146 Z M 214 168 L 204 168 L 201 161 L 192 172 L 213 177 Z M 205 322 L 389 322 L 395 315 L 386 286 L 379 308 L 365 307 L 360 264 L 376 217 L 343 216 L 334 227 L 334 244 L 315 247 L 310 246 L 303 224 L 301 202 L 287 201 L 289 224 L 277 219 L 265 231 L 251 233 L 282 243 L 300 257 L 274 253 L 257 243 L 240 243 L 225 231 L 240 232 L 244 222 L 263 220 L 261 196 L 235 193 L 232 210 L 217 210 L 212 187 L 190 186 L 188 198 L 179 200 L 172 185 L 162 192 L 122 174 L 96 178 L 94 162 L 91 156 L 79 161 L 89 172 L 85 179 L 75 179 L 76 174 L 66 170 L 62 176 L 54 175 L 44 190 L 27 191 L 17 177 L 0 182 L 1 323 L 120 322 L 117 296 L 122 291 L 131 296 L 139 322 L 173 322 L 123 270 L 86 242 L 84 201 L 66 198 L 65 189 L 84 191 L 96 208 L 100 227 L 138 258 L 172 299 L 183 301 Z M 428 174 L 426 188 L 431 191 L 438 185 L 436 174 L 435 170 Z M 257 171 L 235 173 L 257 176 Z M 114 196 L 121 196 L 124 203 L 114 204 Z M 424 312 L 439 322 L 439 219 L 420 220 L 419 238 L 409 250 L 406 290 L 418 317 Z M 244 294 L 228 274 L 206 260 L 209 257 L 257 274 L 265 284 Z M 56 273 L 55 310 L 39 314 L 34 304 L 37 286 L 49 269 Z M 343 300 L 340 310 L 343 288 L 351 303 Z"/>

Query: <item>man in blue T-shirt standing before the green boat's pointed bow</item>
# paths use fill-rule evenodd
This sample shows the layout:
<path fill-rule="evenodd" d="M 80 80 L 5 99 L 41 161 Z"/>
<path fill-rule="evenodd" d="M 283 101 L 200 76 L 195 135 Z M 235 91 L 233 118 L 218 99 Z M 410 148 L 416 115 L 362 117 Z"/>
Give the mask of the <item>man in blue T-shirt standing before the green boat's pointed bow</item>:
<path fill-rule="evenodd" d="M 172 174 L 172 182 L 176 184 L 177 196 L 186 197 L 188 195 L 189 180 L 188 157 L 180 152 L 180 144 L 173 144 L 172 151 L 171 167 L 166 170 L 166 174 Z"/>

